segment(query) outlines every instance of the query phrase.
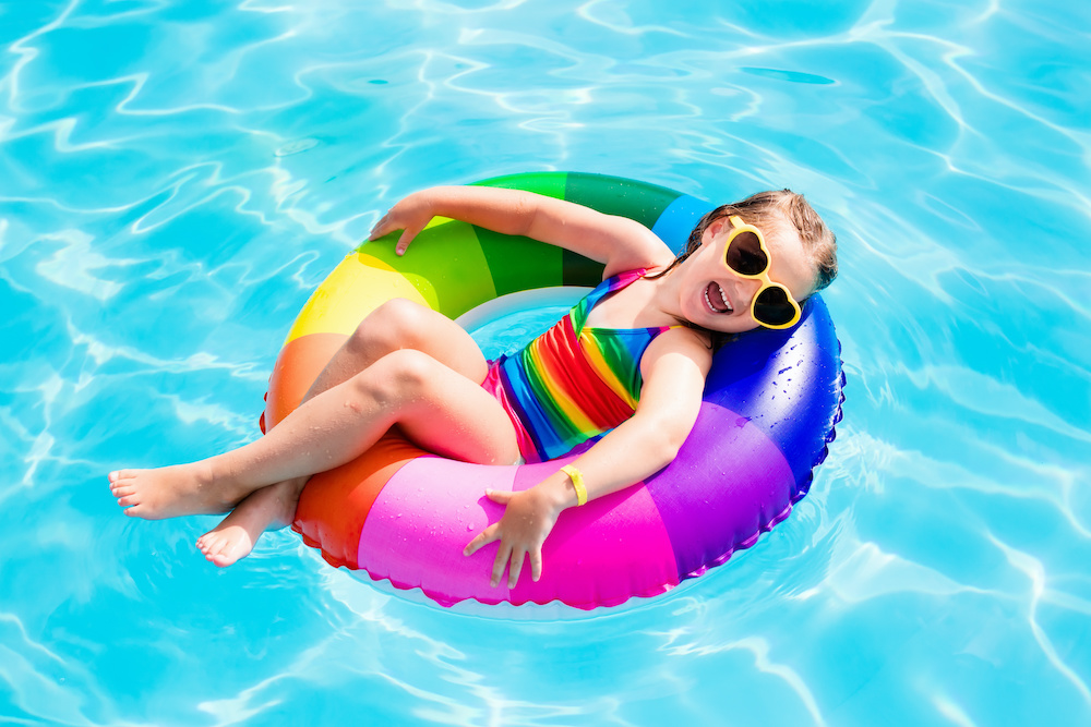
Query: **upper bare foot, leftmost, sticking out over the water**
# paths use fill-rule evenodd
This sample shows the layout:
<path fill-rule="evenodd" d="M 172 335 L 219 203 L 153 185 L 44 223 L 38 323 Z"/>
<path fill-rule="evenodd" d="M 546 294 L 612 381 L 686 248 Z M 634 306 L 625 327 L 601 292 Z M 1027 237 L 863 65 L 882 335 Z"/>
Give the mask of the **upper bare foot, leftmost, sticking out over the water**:
<path fill-rule="evenodd" d="M 109 475 L 110 492 L 130 518 L 159 520 L 183 514 L 212 514 L 231 509 L 239 493 L 213 476 L 207 462 L 155 470 L 119 470 Z"/>

